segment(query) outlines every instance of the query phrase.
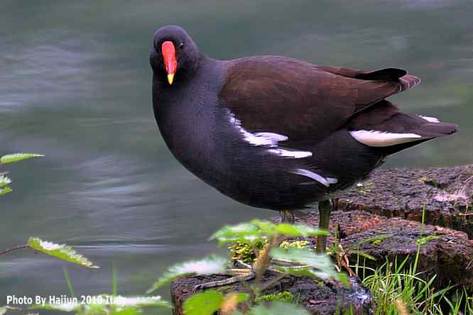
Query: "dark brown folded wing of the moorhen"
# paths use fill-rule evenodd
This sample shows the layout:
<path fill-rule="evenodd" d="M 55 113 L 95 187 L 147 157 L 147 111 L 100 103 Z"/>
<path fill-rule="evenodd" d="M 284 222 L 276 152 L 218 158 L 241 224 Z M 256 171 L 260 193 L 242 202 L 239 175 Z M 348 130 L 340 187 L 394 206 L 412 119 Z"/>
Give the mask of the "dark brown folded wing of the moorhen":
<path fill-rule="evenodd" d="M 415 85 L 411 82 L 415 77 L 399 79 L 404 74 L 398 69 L 364 72 L 317 67 L 288 57 L 247 57 L 230 62 L 219 99 L 249 131 L 313 140 L 340 128 L 355 113 Z"/>

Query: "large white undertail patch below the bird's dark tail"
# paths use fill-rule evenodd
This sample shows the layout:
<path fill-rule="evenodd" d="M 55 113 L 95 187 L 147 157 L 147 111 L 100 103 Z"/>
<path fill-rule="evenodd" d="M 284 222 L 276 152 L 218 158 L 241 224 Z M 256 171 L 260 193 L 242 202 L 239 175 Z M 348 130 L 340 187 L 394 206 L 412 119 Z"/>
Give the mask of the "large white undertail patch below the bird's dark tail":
<path fill-rule="evenodd" d="M 389 145 L 397 145 L 418 140 L 422 136 L 415 133 L 388 133 L 385 131 L 350 131 L 350 134 L 358 142 L 361 142 L 370 147 L 387 147 Z"/>

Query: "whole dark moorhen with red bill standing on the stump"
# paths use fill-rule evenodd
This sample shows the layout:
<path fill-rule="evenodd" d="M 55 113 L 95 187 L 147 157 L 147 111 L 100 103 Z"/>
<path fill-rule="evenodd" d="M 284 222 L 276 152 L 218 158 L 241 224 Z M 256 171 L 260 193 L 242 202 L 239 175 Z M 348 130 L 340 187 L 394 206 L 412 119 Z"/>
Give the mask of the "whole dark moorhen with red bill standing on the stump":
<path fill-rule="evenodd" d="M 179 26 L 156 31 L 150 63 L 156 121 L 187 170 L 250 206 L 293 211 L 318 201 L 322 228 L 330 199 L 386 156 L 457 131 L 386 100 L 419 84 L 402 69 L 215 60 Z"/>

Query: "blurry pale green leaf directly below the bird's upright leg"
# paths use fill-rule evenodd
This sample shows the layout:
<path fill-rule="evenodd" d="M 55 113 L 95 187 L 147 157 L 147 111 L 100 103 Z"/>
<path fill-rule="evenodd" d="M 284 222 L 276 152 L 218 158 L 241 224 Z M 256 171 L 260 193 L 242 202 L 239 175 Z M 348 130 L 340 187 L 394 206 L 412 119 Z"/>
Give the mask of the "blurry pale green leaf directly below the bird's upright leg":
<path fill-rule="evenodd" d="M 288 260 L 290 262 L 298 262 L 301 265 L 308 265 L 307 268 L 281 267 L 281 271 L 293 275 L 319 277 L 323 280 L 340 280 L 339 273 L 335 270 L 332 260 L 330 260 L 327 254 L 316 254 L 306 248 L 273 248 L 269 255 L 278 260 Z"/>

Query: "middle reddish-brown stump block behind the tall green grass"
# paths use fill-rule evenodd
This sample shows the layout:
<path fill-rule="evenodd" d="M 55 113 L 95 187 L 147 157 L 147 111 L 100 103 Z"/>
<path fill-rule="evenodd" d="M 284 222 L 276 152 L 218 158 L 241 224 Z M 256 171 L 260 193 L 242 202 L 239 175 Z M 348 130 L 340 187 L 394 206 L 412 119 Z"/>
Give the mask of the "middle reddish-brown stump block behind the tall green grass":
<path fill-rule="evenodd" d="M 314 211 L 297 221 L 318 226 L 318 217 Z M 366 267 L 380 267 L 386 258 L 390 262 L 397 260 L 401 263 L 409 257 L 410 262 L 413 262 L 418 241 L 423 241 L 418 262 L 418 271 L 424 272 L 423 277 L 437 275 L 435 287 L 458 284 L 473 290 L 473 241 L 464 232 L 401 218 L 376 216 L 364 211 L 335 211 L 330 216 L 330 222 L 332 236 L 328 240 L 329 246 L 334 241 L 335 231 L 338 231 L 342 248 L 361 250 L 376 258 L 376 261 L 363 261 L 361 258 L 361 265 L 366 263 Z M 373 241 L 367 241 L 370 239 Z M 315 246 L 315 238 L 307 240 Z M 357 260 L 357 255 L 350 255 L 350 265 L 354 265 Z"/>

